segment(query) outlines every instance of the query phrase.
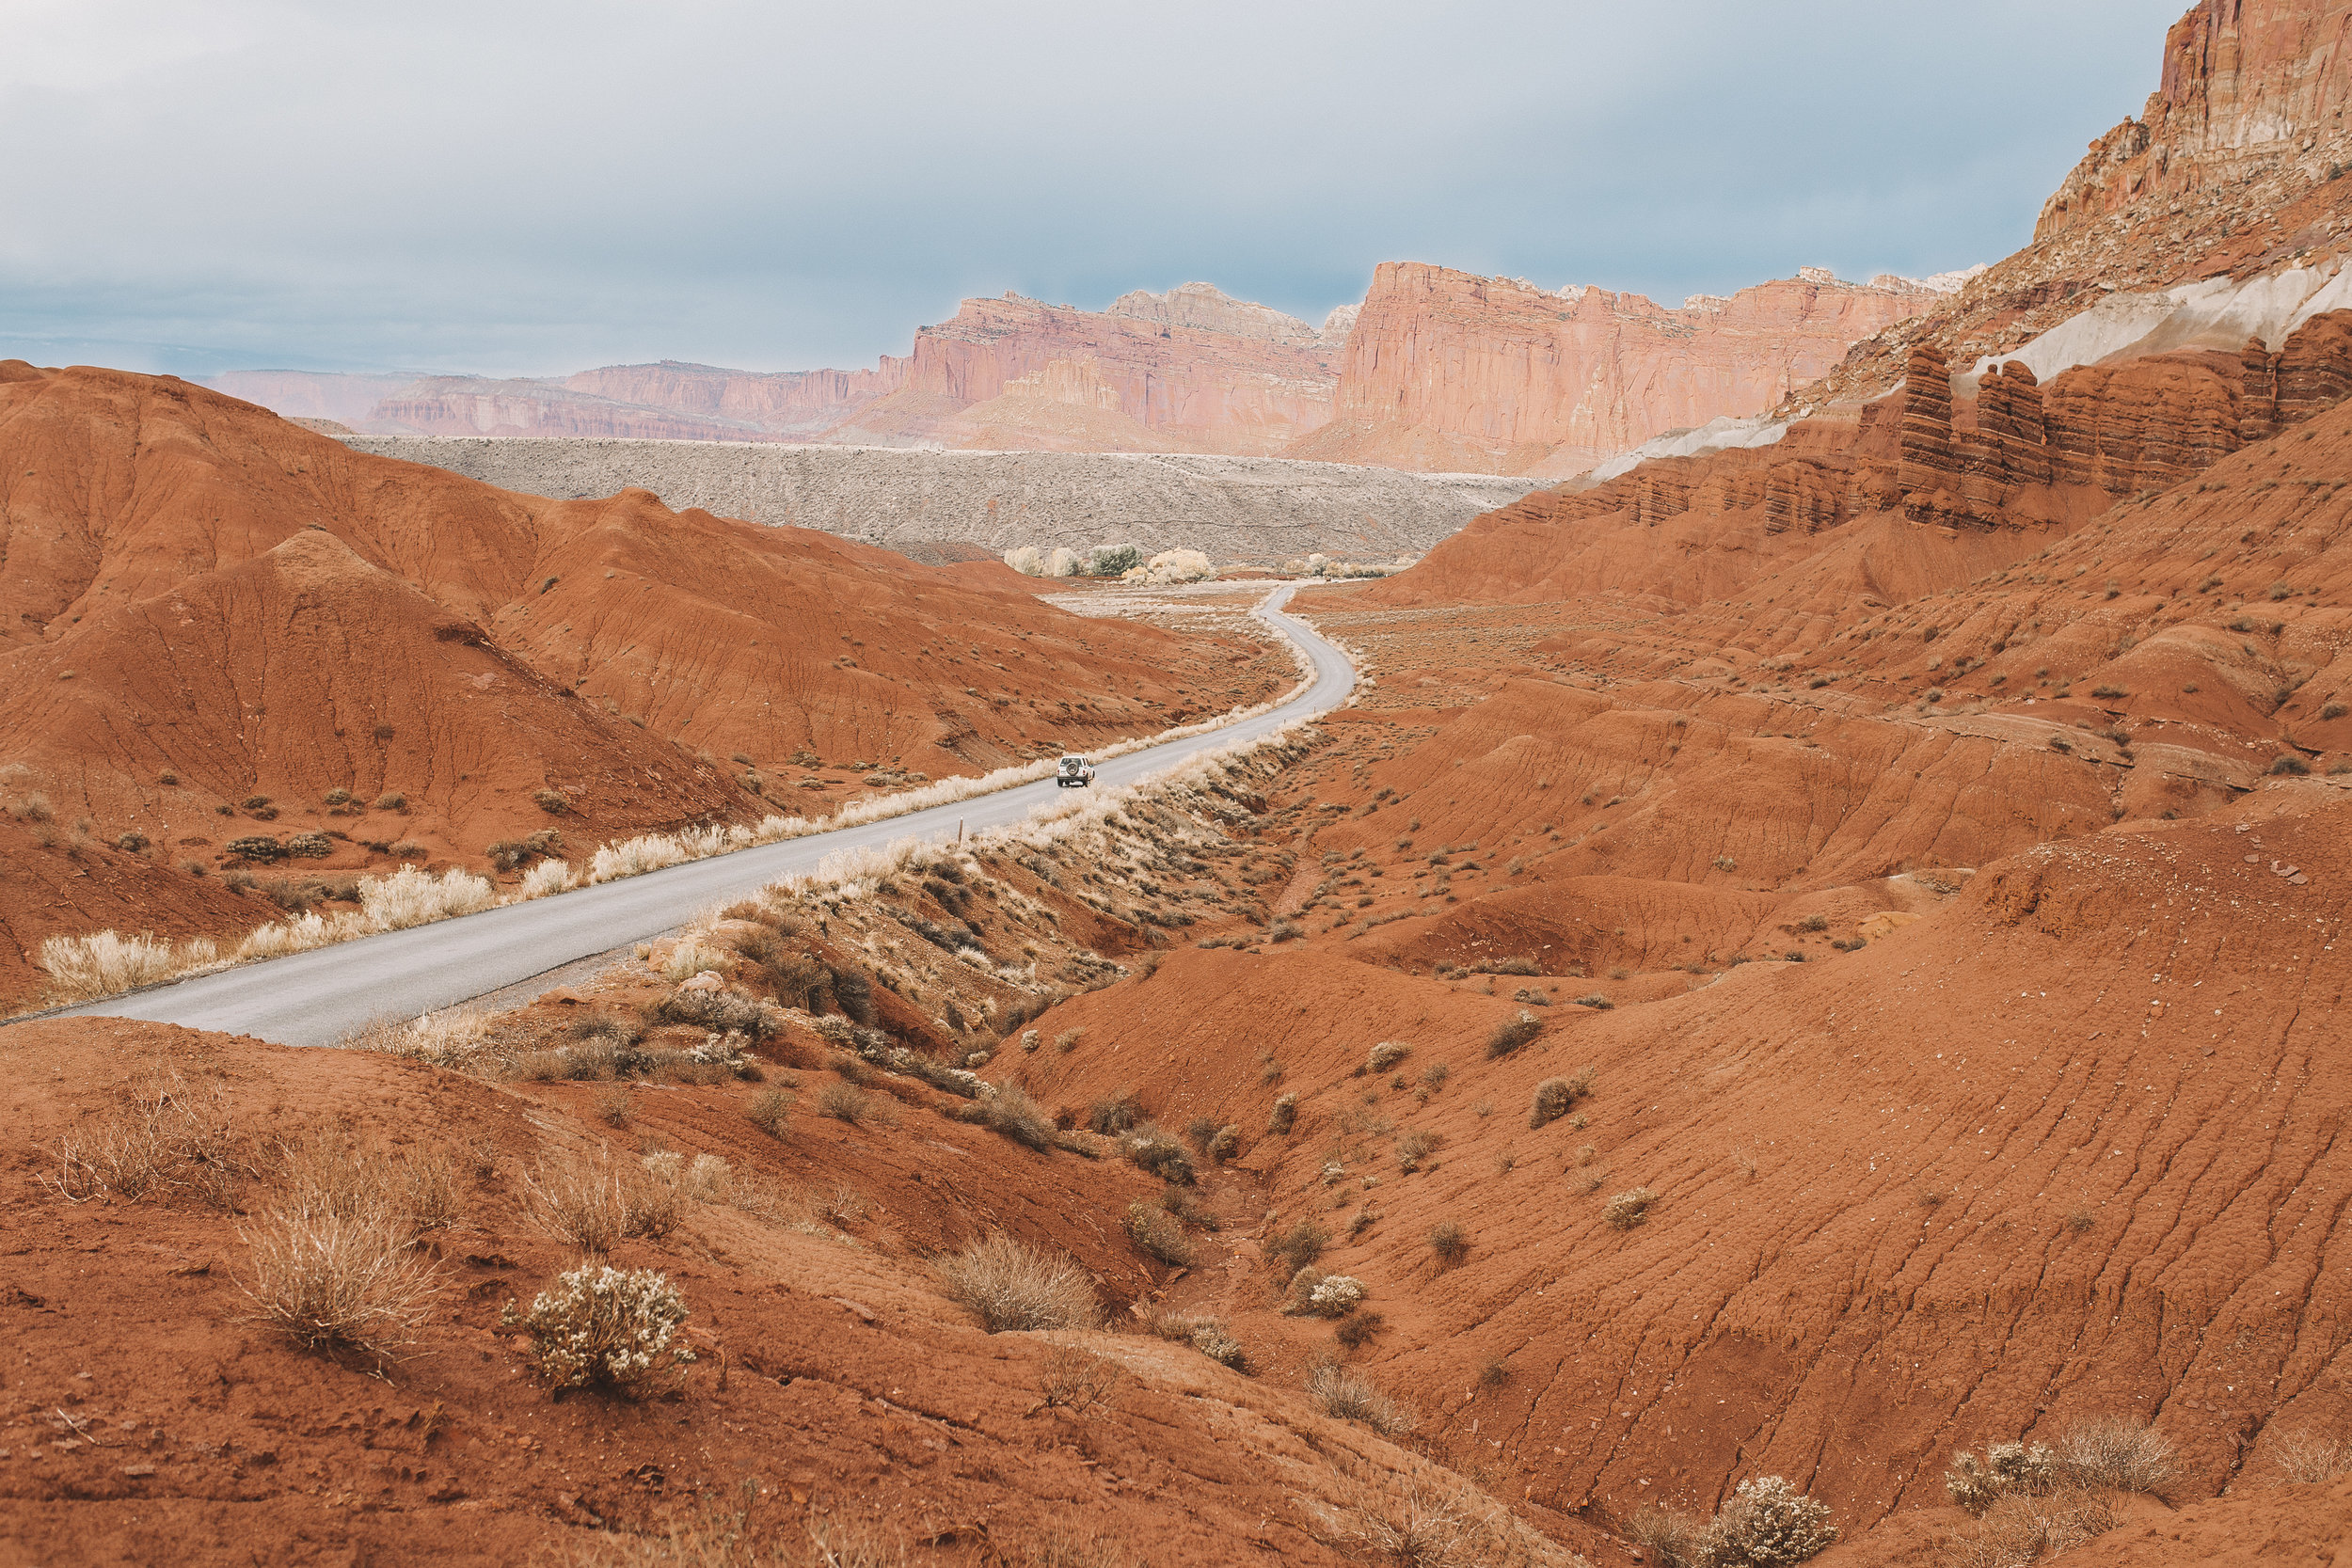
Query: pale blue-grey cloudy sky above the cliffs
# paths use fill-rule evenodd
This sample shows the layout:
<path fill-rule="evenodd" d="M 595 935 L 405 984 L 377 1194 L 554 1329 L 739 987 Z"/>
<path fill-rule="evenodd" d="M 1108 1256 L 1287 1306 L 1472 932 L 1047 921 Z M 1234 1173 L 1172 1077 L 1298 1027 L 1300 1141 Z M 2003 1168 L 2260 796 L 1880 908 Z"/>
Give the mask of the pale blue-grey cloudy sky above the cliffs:
<path fill-rule="evenodd" d="M 866 367 L 1381 261 L 1679 303 L 1997 261 L 2187 0 L 0 0 L 0 357 Z"/>

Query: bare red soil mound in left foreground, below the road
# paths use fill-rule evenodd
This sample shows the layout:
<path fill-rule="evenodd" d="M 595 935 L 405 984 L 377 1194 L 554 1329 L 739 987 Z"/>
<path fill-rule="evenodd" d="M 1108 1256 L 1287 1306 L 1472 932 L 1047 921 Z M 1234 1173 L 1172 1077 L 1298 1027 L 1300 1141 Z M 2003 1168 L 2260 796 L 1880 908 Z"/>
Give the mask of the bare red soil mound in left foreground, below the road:
<path fill-rule="evenodd" d="M 746 1483 L 755 1530 L 786 1544 L 811 1521 L 880 1521 L 927 1563 L 1033 1561 L 1056 1540 L 1108 1544 L 1105 1561 L 1148 1542 L 1155 1563 L 1341 1563 L 1301 1528 L 1301 1497 L 1442 1479 L 1188 1347 L 981 1333 L 924 1255 L 1004 1229 L 1077 1258 L 1117 1314 L 1152 1269 L 1108 1215 L 1155 1182 L 1016 1150 L 929 1095 L 901 1126 L 793 1114 L 774 1140 L 743 1117 L 746 1086 L 637 1086 L 616 1131 L 593 1119 L 588 1084 L 517 1093 L 158 1025 L 16 1025 L 0 1051 L 16 1067 L 0 1143 L 0 1314 L 21 1349 L 0 1406 L 12 1563 L 567 1561 L 600 1528 L 661 1530 L 736 1505 Z M 275 1150 L 320 1133 L 480 1161 L 430 1248 L 433 1321 L 397 1361 L 306 1354 L 254 1324 L 235 1213 L 191 1192 L 75 1206 L 47 1185 L 61 1138 L 174 1072 L 219 1093 L 238 1133 L 228 1201 L 247 1213 L 275 1185 Z M 517 1208 L 520 1180 L 595 1145 L 623 1161 L 715 1154 L 786 1215 L 833 1208 L 795 1227 L 689 1204 L 670 1237 L 616 1248 L 689 1302 L 701 1361 L 680 1399 L 550 1401 L 499 1328 L 506 1302 L 569 1265 Z M 1058 1345 L 1122 1368 L 1108 1406 L 1042 1403 Z"/>

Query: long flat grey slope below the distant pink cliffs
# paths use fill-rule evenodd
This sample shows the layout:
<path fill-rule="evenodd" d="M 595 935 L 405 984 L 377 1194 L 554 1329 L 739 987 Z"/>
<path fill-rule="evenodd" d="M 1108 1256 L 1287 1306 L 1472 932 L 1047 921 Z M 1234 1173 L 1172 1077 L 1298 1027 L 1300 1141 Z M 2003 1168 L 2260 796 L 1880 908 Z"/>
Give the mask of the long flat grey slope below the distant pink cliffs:
<path fill-rule="evenodd" d="M 1207 550 L 1218 562 L 1322 550 L 1355 559 L 1421 555 L 1458 527 L 1536 489 L 1496 475 L 1418 475 L 1141 451 L 910 451 L 769 442 L 350 435 L 358 451 L 430 463 L 560 501 L 637 487 L 673 510 L 826 529 L 903 548 L 967 541 L 990 550 L 1131 543 L 1145 555 Z"/>

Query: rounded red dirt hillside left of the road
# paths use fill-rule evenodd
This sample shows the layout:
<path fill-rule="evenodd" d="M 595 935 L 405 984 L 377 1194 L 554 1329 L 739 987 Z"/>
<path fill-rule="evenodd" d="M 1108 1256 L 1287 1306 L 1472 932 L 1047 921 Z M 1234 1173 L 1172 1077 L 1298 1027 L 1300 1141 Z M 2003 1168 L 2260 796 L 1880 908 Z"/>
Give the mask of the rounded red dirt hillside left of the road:
<path fill-rule="evenodd" d="M 348 872 L 557 827 L 579 856 L 1294 679 L 1261 642 L 1082 621 L 828 534 L 515 496 L 174 378 L 0 369 L 0 806 L 64 853 L 214 865 L 327 830 L 315 870 Z M 223 914 L 160 898 L 153 924 Z M 73 919 L 0 910 L 0 992 Z"/>

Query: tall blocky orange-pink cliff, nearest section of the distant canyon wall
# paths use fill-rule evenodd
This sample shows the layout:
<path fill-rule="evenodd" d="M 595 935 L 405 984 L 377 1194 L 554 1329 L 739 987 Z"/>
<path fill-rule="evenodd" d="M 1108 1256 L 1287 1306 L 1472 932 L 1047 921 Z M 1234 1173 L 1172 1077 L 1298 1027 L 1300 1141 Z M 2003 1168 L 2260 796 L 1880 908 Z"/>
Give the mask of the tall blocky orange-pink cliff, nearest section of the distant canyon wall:
<path fill-rule="evenodd" d="M 1757 414 L 1936 299 L 1806 268 L 1668 310 L 1392 261 L 1348 339 L 1331 425 L 1291 456 L 1569 477 L 1661 430 Z"/>

